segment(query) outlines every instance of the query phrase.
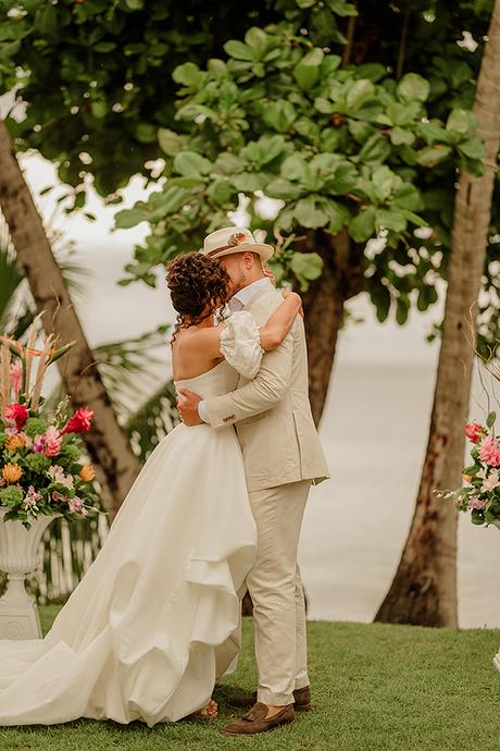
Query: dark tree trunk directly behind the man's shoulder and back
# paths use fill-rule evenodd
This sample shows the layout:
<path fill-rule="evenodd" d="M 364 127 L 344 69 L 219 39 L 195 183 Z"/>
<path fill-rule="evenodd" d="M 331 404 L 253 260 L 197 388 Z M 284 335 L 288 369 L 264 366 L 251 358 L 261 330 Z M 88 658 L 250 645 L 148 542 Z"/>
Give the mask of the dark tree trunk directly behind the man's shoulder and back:
<path fill-rule="evenodd" d="M 312 282 L 308 292 L 302 293 L 308 334 L 309 396 L 317 424 L 328 393 L 343 304 L 361 292 L 362 274 L 358 249 L 347 230 L 335 236 L 311 233 L 304 241 L 303 250 L 315 251 L 323 259 L 321 276 Z"/>

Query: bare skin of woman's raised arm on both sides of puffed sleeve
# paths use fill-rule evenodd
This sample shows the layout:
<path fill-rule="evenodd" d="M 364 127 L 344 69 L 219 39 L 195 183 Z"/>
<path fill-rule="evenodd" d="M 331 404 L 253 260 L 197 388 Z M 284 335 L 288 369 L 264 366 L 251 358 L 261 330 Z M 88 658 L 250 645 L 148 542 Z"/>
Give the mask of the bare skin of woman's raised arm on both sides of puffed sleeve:
<path fill-rule="evenodd" d="M 293 325 L 297 313 L 302 309 L 302 299 L 296 292 L 285 292 L 284 301 L 279 305 L 267 321 L 259 329 L 261 347 L 264 352 L 277 349 Z M 238 315 L 238 313 L 236 313 Z M 196 338 L 198 352 L 210 359 L 221 357 L 221 334 L 224 324 L 199 329 L 191 334 Z"/>

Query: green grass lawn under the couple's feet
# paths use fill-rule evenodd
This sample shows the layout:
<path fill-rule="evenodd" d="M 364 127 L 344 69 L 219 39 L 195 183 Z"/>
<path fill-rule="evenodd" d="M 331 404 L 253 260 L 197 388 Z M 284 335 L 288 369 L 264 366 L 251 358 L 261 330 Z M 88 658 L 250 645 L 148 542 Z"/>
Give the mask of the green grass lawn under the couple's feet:
<path fill-rule="evenodd" d="M 43 628 L 58 608 L 42 608 Z M 252 621 L 236 674 L 215 693 L 216 719 L 122 726 L 80 719 L 0 728 L 0 749 L 36 751 L 500 751 L 500 675 L 491 657 L 500 631 L 309 624 L 313 711 L 253 738 L 221 735 L 226 698 L 255 685 Z"/>

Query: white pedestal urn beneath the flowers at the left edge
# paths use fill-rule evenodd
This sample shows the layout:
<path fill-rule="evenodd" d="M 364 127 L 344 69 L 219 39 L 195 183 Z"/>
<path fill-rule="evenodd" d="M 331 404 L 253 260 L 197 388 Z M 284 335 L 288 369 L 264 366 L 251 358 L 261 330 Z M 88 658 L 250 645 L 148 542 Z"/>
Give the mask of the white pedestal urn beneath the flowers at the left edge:
<path fill-rule="evenodd" d="M 8 510 L 0 508 L 0 569 L 9 575 L 0 598 L 0 639 L 41 639 L 37 604 L 24 580 L 38 568 L 41 535 L 55 516 L 40 516 L 26 529 L 21 521 L 4 521 Z"/>

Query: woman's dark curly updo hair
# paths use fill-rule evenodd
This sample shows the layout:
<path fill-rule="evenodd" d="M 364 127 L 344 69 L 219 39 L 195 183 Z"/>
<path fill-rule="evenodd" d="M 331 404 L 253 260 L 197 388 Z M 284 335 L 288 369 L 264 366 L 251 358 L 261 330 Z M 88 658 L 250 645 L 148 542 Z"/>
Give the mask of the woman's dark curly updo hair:
<path fill-rule="evenodd" d="M 172 341 L 180 329 L 200 323 L 230 297 L 229 276 L 224 267 L 200 253 L 174 258 L 166 267 L 165 279 L 177 312 Z"/>

